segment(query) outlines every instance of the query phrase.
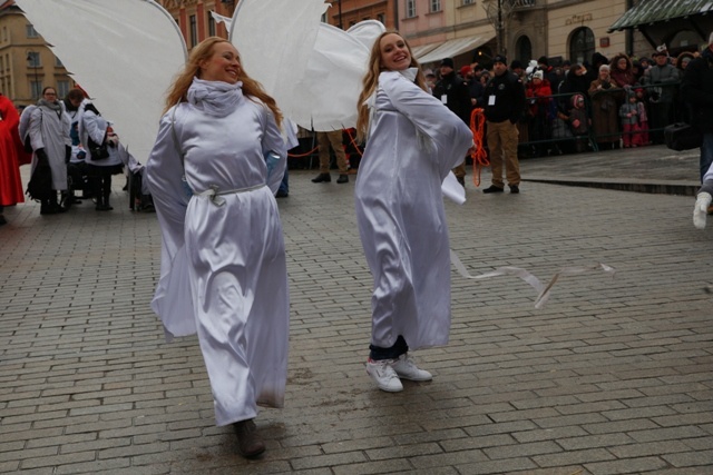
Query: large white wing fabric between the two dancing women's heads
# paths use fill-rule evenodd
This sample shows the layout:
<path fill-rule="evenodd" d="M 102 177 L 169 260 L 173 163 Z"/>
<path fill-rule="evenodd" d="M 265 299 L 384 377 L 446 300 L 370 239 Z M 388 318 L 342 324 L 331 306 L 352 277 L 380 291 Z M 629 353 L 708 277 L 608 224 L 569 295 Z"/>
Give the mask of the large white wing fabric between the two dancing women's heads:
<path fill-rule="evenodd" d="M 356 125 L 356 100 L 373 40 L 385 30 L 364 21 L 349 32 L 323 23 L 323 0 L 241 0 L 229 28 L 247 73 L 305 129 Z"/>

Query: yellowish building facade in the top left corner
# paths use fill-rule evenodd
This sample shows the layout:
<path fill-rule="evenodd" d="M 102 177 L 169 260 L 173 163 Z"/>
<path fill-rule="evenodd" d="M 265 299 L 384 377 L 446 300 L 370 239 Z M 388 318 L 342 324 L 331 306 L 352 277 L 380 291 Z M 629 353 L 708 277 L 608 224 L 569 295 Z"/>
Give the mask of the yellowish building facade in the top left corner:
<path fill-rule="evenodd" d="M 75 81 L 14 1 L 1 2 L 0 92 L 23 107 L 37 102 L 48 86 L 61 98 Z"/>

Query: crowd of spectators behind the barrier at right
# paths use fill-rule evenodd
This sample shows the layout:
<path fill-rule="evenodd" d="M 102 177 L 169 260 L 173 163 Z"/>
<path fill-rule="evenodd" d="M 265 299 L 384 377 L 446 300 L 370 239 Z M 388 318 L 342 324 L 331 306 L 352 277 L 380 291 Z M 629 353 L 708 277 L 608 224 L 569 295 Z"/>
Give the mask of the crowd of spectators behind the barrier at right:
<path fill-rule="evenodd" d="M 663 144 L 664 128 L 686 121 L 680 99 L 683 70 L 695 52 L 671 56 L 665 46 L 652 58 L 595 52 L 590 61 L 550 65 L 547 57 L 509 69 L 525 83 L 527 108 L 518 122 L 522 158 Z M 432 88 L 438 72 L 426 70 Z M 457 70 L 467 85 L 469 107 L 484 107 L 484 91 L 492 71 L 473 62 Z"/>

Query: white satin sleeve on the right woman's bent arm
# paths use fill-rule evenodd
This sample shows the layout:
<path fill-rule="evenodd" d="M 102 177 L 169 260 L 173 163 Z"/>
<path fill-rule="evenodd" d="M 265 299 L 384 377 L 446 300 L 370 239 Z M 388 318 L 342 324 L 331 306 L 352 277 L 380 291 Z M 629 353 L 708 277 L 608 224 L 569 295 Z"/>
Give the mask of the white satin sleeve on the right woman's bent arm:
<path fill-rule="evenodd" d="M 434 157 L 439 161 L 441 179 L 448 171 L 463 161 L 472 145 L 472 132 L 468 126 L 440 100 L 408 80 L 400 72 L 382 72 L 379 86 L 393 107 L 406 116 L 420 133 L 436 146 Z"/>

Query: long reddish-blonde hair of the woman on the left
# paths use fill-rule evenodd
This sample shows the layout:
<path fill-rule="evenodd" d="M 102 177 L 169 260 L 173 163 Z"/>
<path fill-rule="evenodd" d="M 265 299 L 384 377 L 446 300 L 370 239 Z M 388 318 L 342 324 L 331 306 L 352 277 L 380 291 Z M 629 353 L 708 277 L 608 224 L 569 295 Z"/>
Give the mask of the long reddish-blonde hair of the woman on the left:
<path fill-rule="evenodd" d="M 166 111 L 176 103 L 186 102 L 188 100 L 188 88 L 191 88 L 193 78 L 201 77 L 201 63 L 213 56 L 213 48 L 216 44 L 224 42 L 226 43 L 229 41 L 219 37 L 209 37 L 201 41 L 191 51 L 191 56 L 188 57 L 185 68 L 176 76 L 170 89 L 168 89 L 164 113 L 166 113 Z M 243 81 L 243 93 L 245 96 L 257 98 L 270 108 L 273 116 L 275 116 L 277 127 L 280 127 L 282 123 L 282 112 L 280 111 L 277 103 L 270 95 L 267 95 L 267 92 L 265 92 L 260 82 L 247 76 L 242 63 L 237 73 L 237 80 Z"/>

